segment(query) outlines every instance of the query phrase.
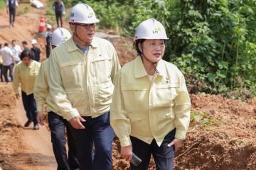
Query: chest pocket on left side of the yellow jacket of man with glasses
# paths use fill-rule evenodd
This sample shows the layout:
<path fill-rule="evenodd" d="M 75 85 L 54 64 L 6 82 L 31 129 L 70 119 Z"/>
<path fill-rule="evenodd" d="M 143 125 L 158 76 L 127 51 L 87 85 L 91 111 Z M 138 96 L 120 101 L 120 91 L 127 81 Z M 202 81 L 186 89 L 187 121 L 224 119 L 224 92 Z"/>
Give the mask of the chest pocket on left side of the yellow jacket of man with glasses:
<path fill-rule="evenodd" d="M 80 87 L 85 76 L 85 63 L 68 62 L 60 64 L 60 74 L 63 86 L 67 89 Z"/>

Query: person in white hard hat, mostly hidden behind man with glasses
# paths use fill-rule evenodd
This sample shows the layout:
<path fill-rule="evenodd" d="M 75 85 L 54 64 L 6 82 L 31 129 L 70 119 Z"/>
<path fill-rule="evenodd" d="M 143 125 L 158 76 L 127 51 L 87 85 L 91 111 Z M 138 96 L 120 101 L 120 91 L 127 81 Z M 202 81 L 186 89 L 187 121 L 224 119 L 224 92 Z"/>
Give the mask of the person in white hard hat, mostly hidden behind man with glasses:
<path fill-rule="evenodd" d="M 51 45 L 53 48 L 62 44 L 71 38 L 71 34 L 65 28 L 57 28 L 53 31 Z M 70 132 L 70 124 L 67 123 L 58 107 L 53 103 L 49 94 L 48 79 L 49 79 L 49 60 L 46 59 L 40 67 L 38 77 L 34 86 L 34 96 L 37 106 L 37 120 L 40 125 L 44 125 L 43 106 L 46 104 L 48 112 L 48 125 L 50 128 L 51 141 L 53 145 L 53 153 L 58 164 L 57 169 L 78 170 L 78 160 L 76 159 L 75 141 Z M 65 130 L 68 137 L 68 157 L 65 148 Z"/>

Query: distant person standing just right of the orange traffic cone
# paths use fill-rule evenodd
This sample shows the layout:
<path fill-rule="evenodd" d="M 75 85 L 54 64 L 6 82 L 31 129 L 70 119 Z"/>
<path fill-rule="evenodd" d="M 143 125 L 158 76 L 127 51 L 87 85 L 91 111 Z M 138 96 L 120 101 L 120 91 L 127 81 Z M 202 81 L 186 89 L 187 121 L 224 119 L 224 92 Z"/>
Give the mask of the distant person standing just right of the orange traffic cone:
<path fill-rule="evenodd" d="M 63 1 L 60 1 L 60 0 L 54 1 L 53 11 L 55 12 L 57 26 L 62 28 L 63 27 L 62 16 L 65 13 L 65 6 L 63 4 Z M 60 24 L 59 24 L 59 21 L 60 21 Z"/>

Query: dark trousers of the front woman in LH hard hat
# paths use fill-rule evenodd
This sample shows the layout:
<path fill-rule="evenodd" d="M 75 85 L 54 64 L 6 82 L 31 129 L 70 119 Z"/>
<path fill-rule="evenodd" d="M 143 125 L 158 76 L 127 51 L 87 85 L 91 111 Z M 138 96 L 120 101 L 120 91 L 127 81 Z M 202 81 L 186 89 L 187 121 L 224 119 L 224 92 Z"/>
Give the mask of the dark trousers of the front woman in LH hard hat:
<path fill-rule="evenodd" d="M 168 147 L 167 145 L 174 140 L 175 132 L 176 129 L 169 132 L 169 134 L 164 137 L 164 142 L 162 142 L 160 147 L 156 144 L 156 140 L 153 140 L 149 145 L 146 142 L 131 136 L 132 151 L 142 159 L 142 163 L 139 164 L 139 166 L 131 164 L 131 169 L 147 170 L 151 154 L 153 154 L 157 170 L 174 169 L 174 147 Z"/>

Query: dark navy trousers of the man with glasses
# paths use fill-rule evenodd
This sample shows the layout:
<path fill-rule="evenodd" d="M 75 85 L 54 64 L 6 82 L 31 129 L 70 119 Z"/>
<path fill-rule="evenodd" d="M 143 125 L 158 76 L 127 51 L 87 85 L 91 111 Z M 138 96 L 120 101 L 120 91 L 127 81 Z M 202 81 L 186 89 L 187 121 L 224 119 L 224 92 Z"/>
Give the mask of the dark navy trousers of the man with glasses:
<path fill-rule="evenodd" d="M 73 128 L 75 142 L 78 149 L 80 170 L 112 170 L 112 142 L 114 130 L 110 126 L 110 113 L 97 118 L 82 117 L 85 129 Z M 92 159 L 92 147 L 95 155 Z"/>

